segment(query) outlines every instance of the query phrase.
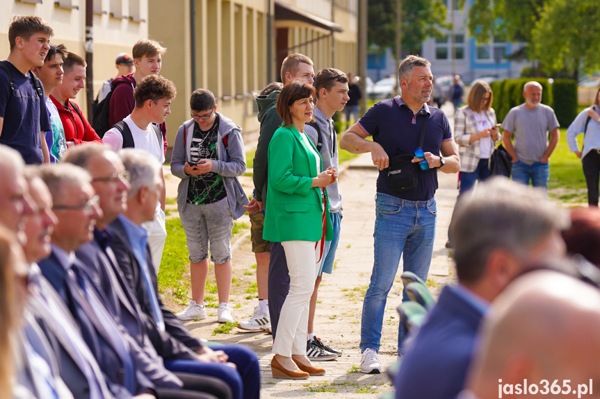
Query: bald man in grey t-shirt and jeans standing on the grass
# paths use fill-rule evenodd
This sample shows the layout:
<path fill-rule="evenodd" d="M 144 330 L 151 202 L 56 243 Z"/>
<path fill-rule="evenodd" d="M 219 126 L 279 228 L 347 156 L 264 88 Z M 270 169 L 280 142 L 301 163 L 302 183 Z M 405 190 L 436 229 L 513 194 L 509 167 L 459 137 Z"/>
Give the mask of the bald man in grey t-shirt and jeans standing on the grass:
<path fill-rule="evenodd" d="M 524 86 L 525 103 L 512 108 L 502 128 L 503 143 L 512 155 L 512 180 L 548 189 L 549 158 L 558 144 L 558 119 L 554 110 L 542 101 L 542 85 L 528 82 Z M 548 133 L 550 132 L 550 141 Z M 510 137 L 514 133 L 514 145 Z"/>

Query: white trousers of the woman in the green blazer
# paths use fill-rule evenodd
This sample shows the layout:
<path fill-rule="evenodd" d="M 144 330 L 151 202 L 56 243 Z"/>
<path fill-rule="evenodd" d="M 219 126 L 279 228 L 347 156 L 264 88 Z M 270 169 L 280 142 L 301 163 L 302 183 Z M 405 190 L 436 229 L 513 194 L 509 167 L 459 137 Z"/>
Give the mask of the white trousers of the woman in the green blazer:
<path fill-rule="evenodd" d="M 314 244 L 314 241 L 282 242 L 290 275 L 290 291 L 279 315 L 277 335 L 271 350 L 277 355 L 306 355 L 309 303 L 318 272 L 318 254 Z"/>

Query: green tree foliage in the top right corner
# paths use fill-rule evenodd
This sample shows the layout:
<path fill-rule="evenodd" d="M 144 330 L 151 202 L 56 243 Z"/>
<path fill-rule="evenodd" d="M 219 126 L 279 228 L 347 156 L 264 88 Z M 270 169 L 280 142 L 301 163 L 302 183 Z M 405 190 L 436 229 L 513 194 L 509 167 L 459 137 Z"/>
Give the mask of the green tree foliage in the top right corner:
<path fill-rule="evenodd" d="M 494 36 L 524 42 L 519 56 L 537 60 L 538 75 L 566 72 L 577 79 L 580 67 L 592 72 L 600 65 L 599 22 L 590 0 L 473 0 L 468 27 L 480 43 Z"/>

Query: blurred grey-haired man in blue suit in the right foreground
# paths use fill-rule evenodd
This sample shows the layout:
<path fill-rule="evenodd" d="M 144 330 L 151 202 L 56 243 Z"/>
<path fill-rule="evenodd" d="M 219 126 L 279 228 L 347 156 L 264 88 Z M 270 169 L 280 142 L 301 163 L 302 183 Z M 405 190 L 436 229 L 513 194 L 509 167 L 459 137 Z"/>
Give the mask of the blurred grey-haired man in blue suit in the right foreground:
<path fill-rule="evenodd" d="M 396 398 L 457 396 L 489 304 L 528 264 L 565 251 L 560 229 L 566 215 L 544 193 L 506 178 L 483 182 L 455 217 L 458 284 L 444 287 L 406 348 L 394 382 Z"/>

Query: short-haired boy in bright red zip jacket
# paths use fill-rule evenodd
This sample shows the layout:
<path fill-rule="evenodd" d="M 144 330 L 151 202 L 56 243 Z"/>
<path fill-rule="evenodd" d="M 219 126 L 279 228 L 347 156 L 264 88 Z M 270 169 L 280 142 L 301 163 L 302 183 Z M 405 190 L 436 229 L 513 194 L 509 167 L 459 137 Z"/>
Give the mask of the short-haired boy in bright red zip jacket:
<path fill-rule="evenodd" d="M 67 146 L 85 142 L 102 144 L 102 139 L 98 137 L 86 117 L 83 116 L 79 106 L 70 101 L 77 96 L 79 90 L 85 87 L 86 67 L 86 61 L 83 58 L 67 52 L 67 58 L 63 60 L 63 70 L 65 71 L 63 84 L 54 87 L 50 94 L 50 99 L 58 109 L 60 121 L 63 122 Z"/>

